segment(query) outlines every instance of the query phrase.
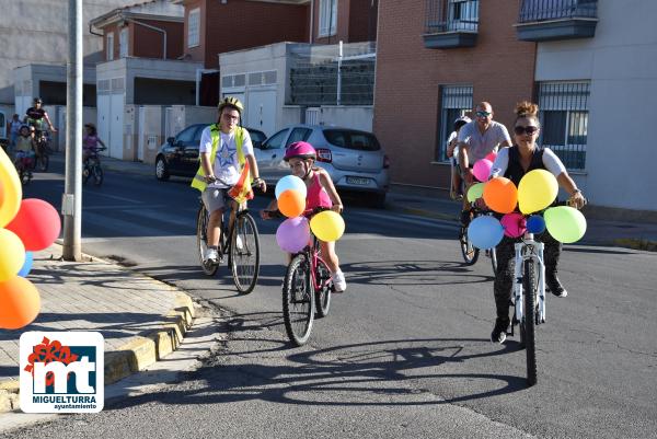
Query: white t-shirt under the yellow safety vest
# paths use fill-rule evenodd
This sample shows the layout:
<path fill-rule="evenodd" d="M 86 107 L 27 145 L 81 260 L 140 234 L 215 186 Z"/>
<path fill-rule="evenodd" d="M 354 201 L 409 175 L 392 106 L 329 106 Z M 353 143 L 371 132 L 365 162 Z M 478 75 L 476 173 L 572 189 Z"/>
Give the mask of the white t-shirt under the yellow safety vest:
<path fill-rule="evenodd" d="M 210 136 L 210 127 L 206 127 L 200 136 L 199 153 L 210 153 L 212 151 L 212 137 Z M 242 143 L 242 153 L 253 155 L 253 145 L 251 136 L 244 129 L 244 142 Z M 218 178 L 208 187 L 227 188 L 233 186 L 240 180 L 240 162 L 238 159 L 238 145 L 235 142 L 235 131 L 223 134 L 219 131 L 219 145 L 217 145 L 217 155 L 212 164 L 215 176 Z"/>

